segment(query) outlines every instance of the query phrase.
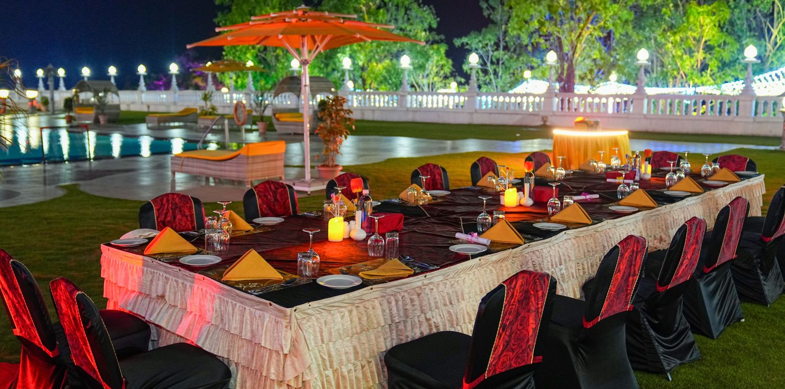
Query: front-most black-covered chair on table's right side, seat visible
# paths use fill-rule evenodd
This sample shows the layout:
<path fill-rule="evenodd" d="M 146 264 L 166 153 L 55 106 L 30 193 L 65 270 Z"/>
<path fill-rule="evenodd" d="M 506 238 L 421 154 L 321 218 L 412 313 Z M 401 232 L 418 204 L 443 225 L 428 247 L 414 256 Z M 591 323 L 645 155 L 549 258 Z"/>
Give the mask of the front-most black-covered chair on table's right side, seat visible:
<path fill-rule="evenodd" d="M 488 292 L 472 336 L 440 331 L 385 354 L 389 389 L 533 388 L 556 279 L 520 271 Z"/>

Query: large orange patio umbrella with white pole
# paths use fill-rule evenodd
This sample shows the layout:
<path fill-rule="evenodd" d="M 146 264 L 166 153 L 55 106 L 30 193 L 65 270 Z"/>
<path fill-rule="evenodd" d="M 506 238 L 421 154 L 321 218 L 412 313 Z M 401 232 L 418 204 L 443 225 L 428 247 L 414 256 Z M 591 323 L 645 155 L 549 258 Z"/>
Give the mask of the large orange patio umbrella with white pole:
<path fill-rule="evenodd" d="M 301 5 L 293 11 L 252 16 L 249 22 L 243 24 L 217 27 L 215 31 L 228 32 L 188 45 L 188 49 L 195 46 L 276 46 L 286 48 L 294 58 L 300 61 L 302 66 L 303 136 L 305 140 L 303 154 L 305 155 L 305 181 L 308 183 L 311 181 L 308 67 L 313 59 L 323 50 L 359 42 L 390 41 L 425 44 L 425 42 L 415 41 L 385 30 L 392 29 L 393 26 L 352 20 L 356 18 L 356 15 L 312 11 L 309 7 Z"/>

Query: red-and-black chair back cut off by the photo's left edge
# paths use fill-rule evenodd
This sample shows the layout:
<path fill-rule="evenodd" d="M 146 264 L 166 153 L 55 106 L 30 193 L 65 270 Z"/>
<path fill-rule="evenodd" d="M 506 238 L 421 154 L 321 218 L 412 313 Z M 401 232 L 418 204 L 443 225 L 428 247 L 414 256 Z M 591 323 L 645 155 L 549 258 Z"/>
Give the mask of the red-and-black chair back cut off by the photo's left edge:
<path fill-rule="evenodd" d="M 20 389 L 57 389 L 65 385 L 65 369 L 58 366 L 57 339 L 41 290 L 30 271 L 0 249 L 0 294 L 13 334 L 22 344 L 20 364 L 9 378 Z"/>

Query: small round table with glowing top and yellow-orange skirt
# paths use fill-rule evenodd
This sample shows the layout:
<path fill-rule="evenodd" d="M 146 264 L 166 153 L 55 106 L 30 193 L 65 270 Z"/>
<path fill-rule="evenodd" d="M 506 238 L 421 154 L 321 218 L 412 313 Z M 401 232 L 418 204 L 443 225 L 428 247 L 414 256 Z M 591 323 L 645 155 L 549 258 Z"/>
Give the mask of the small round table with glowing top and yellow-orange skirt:
<path fill-rule="evenodd" d="M 564 156 L 564 169 L 578 169 L 590 159 L 600 160 L 597 151 L 605 151 L 604 161 L 611 163 L 613 147 L 619 147 L 619 158 L 632 155 L 630 136 L 625 130 L 553 129 L 553 164 L 557 156 Z"/>

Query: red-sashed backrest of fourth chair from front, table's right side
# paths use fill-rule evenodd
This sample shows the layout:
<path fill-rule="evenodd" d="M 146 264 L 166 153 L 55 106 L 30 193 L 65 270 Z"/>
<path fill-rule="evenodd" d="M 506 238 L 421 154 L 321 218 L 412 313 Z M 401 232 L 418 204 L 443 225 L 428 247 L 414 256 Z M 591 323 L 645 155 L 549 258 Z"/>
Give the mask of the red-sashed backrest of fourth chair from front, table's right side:
<path fill-rule="evenodd" d="M 706 261 L 703 264 L 703 273 L 709 274 L 714 268 L 725 264 L 728 260 L 736 258 L 736 248 L 744 225 L 744 218 L 750 210 L 750 202 L 741 196 L 720 209 L 717 221 L 714 222 L 714 231 L 711 232 L 711 242 L 707 247 Z"/>

